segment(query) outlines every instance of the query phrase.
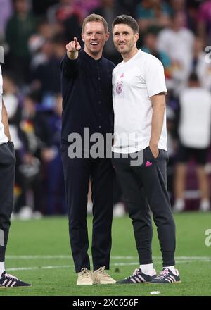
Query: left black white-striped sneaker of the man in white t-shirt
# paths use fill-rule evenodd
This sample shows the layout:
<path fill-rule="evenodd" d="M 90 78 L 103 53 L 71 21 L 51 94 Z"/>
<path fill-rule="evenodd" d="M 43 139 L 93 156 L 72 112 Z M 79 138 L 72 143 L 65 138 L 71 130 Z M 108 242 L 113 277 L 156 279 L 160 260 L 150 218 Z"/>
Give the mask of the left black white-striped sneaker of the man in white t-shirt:
<path fill-rule="evenodd" d="M 141 269 L 135 269 L 135 271 L 128 278 L 117 281 L 117 284 L 138 284 L 138 283 L 150 283 L 156 277 L 156 271 L 153 269 L 151 275 L 146 275 Z"/>

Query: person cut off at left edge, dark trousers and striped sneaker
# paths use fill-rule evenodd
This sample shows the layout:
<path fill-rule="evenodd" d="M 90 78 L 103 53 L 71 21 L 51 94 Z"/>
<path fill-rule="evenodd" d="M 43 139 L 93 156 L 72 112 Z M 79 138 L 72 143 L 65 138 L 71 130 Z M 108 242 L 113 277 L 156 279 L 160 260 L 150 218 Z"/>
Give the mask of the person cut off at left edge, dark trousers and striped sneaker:
<path fill-rule="evenodd" d="M 15 151 L 8 129 L 8 117 L 2 99 L 3 80 L 0 65 L 0 288 L 22 287 L 30 284 L 6 273 L 4 261 L 8 233 L 13 211 L 13 188 L 15 179 Z"/>

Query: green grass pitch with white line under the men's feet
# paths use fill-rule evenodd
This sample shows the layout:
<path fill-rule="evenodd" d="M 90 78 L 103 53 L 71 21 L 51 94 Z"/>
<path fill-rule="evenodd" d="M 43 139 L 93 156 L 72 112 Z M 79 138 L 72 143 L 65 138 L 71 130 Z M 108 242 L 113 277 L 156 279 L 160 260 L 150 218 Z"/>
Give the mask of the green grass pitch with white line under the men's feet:
<path fill-rule="evenodd" d="M 77 286 L 77 275 L 72 258 L 69 257 L 67 218 L 13 221 L 6 252 L 6 270 L 32 283 L 32 287 L 1 289 L 0 297 L 150 296 L 152 291 L 160 291 L 160 295 L 211 295 L 211 246 L 205 245 L 205 230 L 211 229 L 211 213 L 188 212 L 177 214 L 174 218 L 177 225 L 176 259 L 181 284 L 172 285 Z M 91 237 L 91 217 L 88 218 L 88 224 Z M 156 235 L 154 227 L 154 267 L 160 272 L 162 263 Z M 138 266 L 132 223 L 127 216 L 114 218 L 109 273 L 115 280 L 120 280 Z"/>

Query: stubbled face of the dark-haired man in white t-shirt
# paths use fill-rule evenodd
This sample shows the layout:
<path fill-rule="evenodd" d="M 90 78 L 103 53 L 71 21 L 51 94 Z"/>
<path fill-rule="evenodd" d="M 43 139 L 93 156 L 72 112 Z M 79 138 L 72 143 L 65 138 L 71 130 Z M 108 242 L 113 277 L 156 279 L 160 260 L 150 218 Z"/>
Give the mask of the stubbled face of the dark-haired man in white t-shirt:
<path fill-rule="evenodd" d="M 138 39 L 139 33 L 134 33 L 129 25 L 117 24 L 113 28 L 113 42 L 123 58 L 126 55 L 133 54 Z"/>

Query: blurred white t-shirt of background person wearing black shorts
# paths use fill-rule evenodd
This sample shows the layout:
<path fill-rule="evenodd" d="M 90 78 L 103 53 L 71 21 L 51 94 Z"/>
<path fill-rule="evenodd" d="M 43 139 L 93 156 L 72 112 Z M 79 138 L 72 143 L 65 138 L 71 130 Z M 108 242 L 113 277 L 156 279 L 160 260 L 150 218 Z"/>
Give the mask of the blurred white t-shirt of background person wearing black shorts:
<path fill-rule="evenodd" d="M 205 149 L 210 145 L 211 96 L 200 87 L 190 87 L 179 98 L 179 138 L 185 147 Z"/>

